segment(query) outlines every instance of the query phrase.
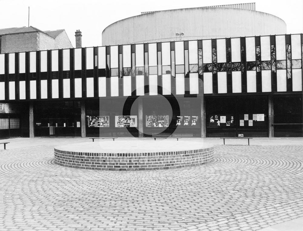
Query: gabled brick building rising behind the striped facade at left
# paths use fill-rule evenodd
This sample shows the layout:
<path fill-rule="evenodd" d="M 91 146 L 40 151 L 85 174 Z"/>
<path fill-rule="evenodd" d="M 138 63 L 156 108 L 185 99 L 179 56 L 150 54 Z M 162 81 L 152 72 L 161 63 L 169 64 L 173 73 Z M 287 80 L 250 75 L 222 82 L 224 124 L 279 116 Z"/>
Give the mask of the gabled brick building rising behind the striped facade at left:
<path fill-rule="evenodd" d="M 0 29 L 0 53 L 73 48 L 64 29 L 42 31 L 33 26 Z"/>

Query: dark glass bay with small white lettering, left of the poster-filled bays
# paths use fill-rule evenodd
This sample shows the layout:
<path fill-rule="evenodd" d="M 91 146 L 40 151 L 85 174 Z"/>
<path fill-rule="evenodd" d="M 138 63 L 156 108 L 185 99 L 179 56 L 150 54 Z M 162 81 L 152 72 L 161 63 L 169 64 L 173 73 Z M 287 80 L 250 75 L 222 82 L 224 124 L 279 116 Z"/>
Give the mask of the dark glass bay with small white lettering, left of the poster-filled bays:
<path fill-rule="evenodd" d="M 35 137 L 81 136 L 79 101 L 38 102 L 34 105 Z"/>

